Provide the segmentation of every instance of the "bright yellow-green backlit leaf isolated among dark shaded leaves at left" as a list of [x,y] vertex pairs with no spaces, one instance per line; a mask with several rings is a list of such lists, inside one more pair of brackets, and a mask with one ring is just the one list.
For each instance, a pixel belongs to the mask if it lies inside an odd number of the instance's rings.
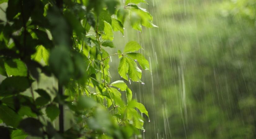
[[45,64],[48,65],[49,55],[49,51],[45,47],[43,47],[43,45],[39,45],[36,48],[36,53],[34,53],[31,57],[37,62],[40,62],[43,58]]

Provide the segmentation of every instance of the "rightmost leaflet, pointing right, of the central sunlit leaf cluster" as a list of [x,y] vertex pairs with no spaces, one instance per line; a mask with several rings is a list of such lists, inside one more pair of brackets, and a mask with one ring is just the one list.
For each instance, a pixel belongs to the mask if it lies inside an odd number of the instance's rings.
[[138,61],[141,68],[144,70],[149,70],[149,62],[146,60],[146,58],[140,54],[140,53],[127,53],[128,57],[132,58],[135,61]]

